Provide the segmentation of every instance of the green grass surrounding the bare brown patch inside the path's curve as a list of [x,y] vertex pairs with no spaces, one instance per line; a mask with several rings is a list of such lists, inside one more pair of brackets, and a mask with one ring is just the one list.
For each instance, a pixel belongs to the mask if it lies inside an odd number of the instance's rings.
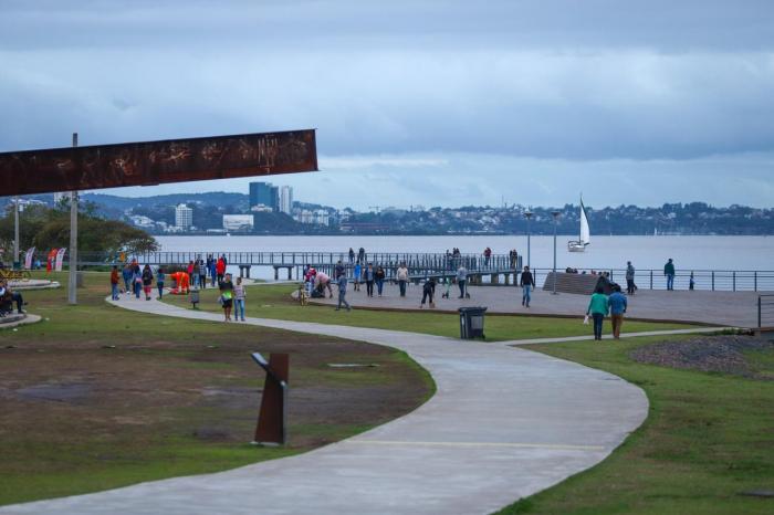
[[[104,302],[107,293],[106,277],[106,274],[86,274],[86,288],[79,291],[80,303],[76,307],[66,304],[66,288],[24,292],[30,303],[29,309],[42,315],[45,320],[22,326],[17,332],[0,330],[0,359],[6,359],[7,366],[19,367],[23,366],[19,362],[32,364],[38,362],[39,358],[48,358],[51,361],[51,372],[45,380],[57,382],[62,377],[80,375],[84,370],[94,376],[104,375],[104,370],[85,367],[81,361],[95,354],[113,353],[112,356],[116,359],[134,360],[139,360],[140,355],[147,354],[149,358],[146,358],[146,361],[137,361],[136,369],[158,366],[168,367],[170,372],[174,372],[176,369],[180,370],[179,367],[196,367],[202,375],[216,371],[212,379],[215,382],[210,382],[211,385],[229,385],[227,379],[219,379],[219,370],[229,371],[236,378],[240,377],[239,371],[234,371],[233,364],[226,358],[226,353],[222,360],[213,358],[212,361],[202,361],[201,355],[207,353],[202,349],[207,349],[208,345],[218,344],[220,350],[226,351],[226,346],[233,341],[279,345],[276,340],[293,335],[248,326],[223,326],[148,316],[115,308]],[[66,284],[64,274],[55,278]],[[320,340],[312,335],[302,338],[303,341],[310,343]],[[335,338],[325,338],[325,341],[332,340]],[[117,348],[106,350],[102,348],[103,345],[116,345]],[[63,347],[66,349],[63,350]],[[432,379],[404,353],[367,347],[376,349],[378,356],[375,358],[365,355],[363,359],[378,359],[383,365],[378,369],[369,369],[374,370],[373,372],[353,370],[347,374],[346,379],[342,379],[341,374],[330,370],[321,371],[314,367],[302,369],[299,360],[295,360],[292,371],[294,387],[318,385],[332,389],[365,386],[373,389],[391,381],[386,375],[393,374],[393,370],[402,370],[402,375],[396,376],[395,381],[402,382],[401,388],[412,385],[410,388],[414,391],[402,396],[411,406],[398,410],[410,411],[431,396],[435,389]],[[247,347],[245,350],[240,348],[236,351],[241,356],[241,353],[247,353]],[[56,361],[54,355],[64,357]],[[15,361],[20,357],[24,359]],[[348,360],[357,359],[358,356],[342,355],[336,358]],[[250,367],[247,376],[251,377],[254,375],[254,366],[249,364],[249,359],[244,362]],[[0,362],[0,366],[2,365]],[[40,365],[38,367],[40,368]],[[365,377],[366,374],[370,376]],[[28,381],[23,374],[21,378],[18,375],[13,377],[15,379],[11,378],[12,382],[6,385],[10,390],[4,392],[1,379],[9,380],[9,377],[0,378],[0,413],[4,413],[3,422],[0,423],[0,505],[232,469],[303,452],[321,443],[367,430],[377,420],[378,423],[385,421],[376,419],[372,423],[347,424],[328,423],[327,420],[317,419],[313,423],[302,421],[292,425],[290,433],[295,441],[313,443],[276,449],[255,448],[244,443],[248,439],[208,441],[192,437],[190,431],[190,428],[221,424],[223,419],[229,419],[228,423],[250,435],[254,428],[254,409],[244,413],[229,408],[202,408],[200,404],[175,409],[166,406],[147,408],[142,404],[129,406],[127,401],[126,406],[108,404],[102,411],[92,410],[88,417],[94,418],[87,419],[79,416],[85,408],[77,403],[67,406],[49,402],[40,410],[40,417],[35,418],[36,410],[33,408],[41,404],[32,404],[31,408],[31,404],[15,400],[13,389],[28,386]],[[262,383],[262,379],[247,382],[245,379],[241,380],[242,383],[234,383],[255,388]],[[195,385],[196,388],[200,386]],[[139,389],[140,386],[136,388]],[[3,398],[4,393],[10,397]],[[20,411],[22,414],[15,417],[17,425],[9,431],[9,410],[22,409],[32,411]],[[156,418],[158,423],[150,427],[150,431],[143,424],[115,427],[111,423],[113,417],[127,414],[127,409],[128,414]],[[137,411],[133,411],[135,409]],[[32,413],[29,419],[23,416],[27,412]]]

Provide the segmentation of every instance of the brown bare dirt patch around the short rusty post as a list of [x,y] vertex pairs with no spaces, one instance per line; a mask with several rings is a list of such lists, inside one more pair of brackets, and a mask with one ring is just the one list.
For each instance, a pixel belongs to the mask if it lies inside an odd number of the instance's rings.
[[[97,341],[33,340],[0,349],[0,437],[57,441],[66,440],[63,435],[123,435],[143,441],[182,434],[212,442],[250,441],[264,378],[250,359],[254,350],[291,355],[289,422],[310,428],[291,432],[292,446],[336,439],[335,431],[320,428],[399,417],[428,393],[421,375],[385,347],[291,333],[273,341],[261,339],[245,344],[223,336],[206,344],[144,345],[117,339],[109,348]],[[332,370],[330,362],[379,366]]]

